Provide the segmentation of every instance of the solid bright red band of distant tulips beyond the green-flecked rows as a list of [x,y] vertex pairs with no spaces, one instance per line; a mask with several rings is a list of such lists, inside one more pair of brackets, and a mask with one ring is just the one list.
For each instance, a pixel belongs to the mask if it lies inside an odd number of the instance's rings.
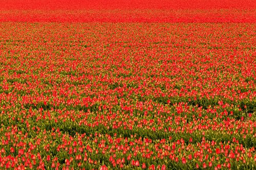
[[255,23],[252,0],[2,0],[0,21]]

